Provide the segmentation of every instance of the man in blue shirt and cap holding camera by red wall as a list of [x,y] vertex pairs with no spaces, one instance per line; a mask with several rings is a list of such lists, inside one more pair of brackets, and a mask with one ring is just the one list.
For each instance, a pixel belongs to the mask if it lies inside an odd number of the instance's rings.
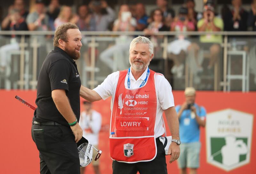
[[180,141],[182,142],[178,165],[180,174],[186,174],[187,168],[190,174],[196,174],[201,148],[199,127],[205,126],[206,110],[195,103],[195,88],[187,87],[184,94],[186,101],[175,108],[180,122]]

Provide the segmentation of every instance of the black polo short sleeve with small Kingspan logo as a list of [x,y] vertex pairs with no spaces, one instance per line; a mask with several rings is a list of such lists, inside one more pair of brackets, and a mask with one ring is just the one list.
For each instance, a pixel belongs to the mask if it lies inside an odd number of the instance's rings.
[[65,89],[68,91],[70,71],[70,65],[67,60],[60,59],[50,64],[48,74],[52,91],[55,89]]

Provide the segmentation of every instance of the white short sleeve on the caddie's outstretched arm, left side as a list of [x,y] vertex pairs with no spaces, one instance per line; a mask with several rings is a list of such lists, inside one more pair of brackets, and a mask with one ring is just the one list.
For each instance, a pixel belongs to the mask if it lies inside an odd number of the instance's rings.
[[106,100],[109,96],[113,95],[113,91],[117,85],[119,78],[119,72],[113,72],[93,90],[96,91],[103,100]]

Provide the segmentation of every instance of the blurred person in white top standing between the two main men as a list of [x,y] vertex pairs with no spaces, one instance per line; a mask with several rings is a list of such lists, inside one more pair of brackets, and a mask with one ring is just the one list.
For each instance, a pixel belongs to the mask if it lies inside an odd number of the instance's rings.
[[[86,138],[96,149],[99,144],[99,132],[101,128],[101,115],[99,112],[92,109],[92,103],[84,101],[84,111],[80,115],[79,125],[83,130],[83,137]],[[97,152],[93,150],[92,166],[95,174],[100,174],[99,162],[94,161]],[[84,174],[85,167],[80,167],[81,174]]]

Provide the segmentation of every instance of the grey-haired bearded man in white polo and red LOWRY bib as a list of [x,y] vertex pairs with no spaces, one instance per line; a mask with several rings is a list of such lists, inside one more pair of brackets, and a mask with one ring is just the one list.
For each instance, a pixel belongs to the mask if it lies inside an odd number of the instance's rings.
[[[162,74],[148,68],[153,43],[138,36],[130,44],[128,70],[113,72],[98,87],[81,87],[89,101],[111,99],[109,131],[113,174],[167,174],[170,163],[179,158],[179,121],[172,87]],[[163,137],[163,112],[172,137]]]

